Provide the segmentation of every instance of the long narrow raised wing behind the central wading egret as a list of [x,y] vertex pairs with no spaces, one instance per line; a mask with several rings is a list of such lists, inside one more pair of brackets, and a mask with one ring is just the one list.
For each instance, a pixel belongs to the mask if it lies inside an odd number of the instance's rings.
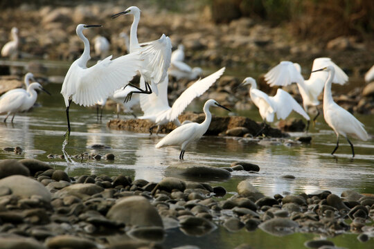
[[219,77],[224,73],[225,68],[221,68],[215,73],[204,77],[202,80],[197,80],[192,86],[188,87],[180,96],[175,100],[174,104],[172,104],[172,109],[168,116],[168,119],[175,120],[178,118],[179,114],[186,109],[188,104],[193,101],[194,98],[199,97],[206,90],[211,87],[211,85],[218,80]]

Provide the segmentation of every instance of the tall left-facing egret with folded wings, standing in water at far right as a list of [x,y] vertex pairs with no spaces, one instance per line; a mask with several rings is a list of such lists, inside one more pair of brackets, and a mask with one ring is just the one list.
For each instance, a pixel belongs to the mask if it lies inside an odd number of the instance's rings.
[[354,138],[366,141],[369,139],[368,133],[365,131],[362,122],[359,122],[359,120],[346,111],[346,109],[339,107],[339,105],[332,99],[331,83],[332,79],[335,77],[335,67],[329,65],[316,71],[312,71],[312,73],[319,71],[328,72],[328,78],[325,82],[325,90],[323,91],[323,117],[328,125],[335,131],[335,134],[337,134],[337,146],[331,154],[334,154],[339,147],[339,135],[341,135],[349,142],[350,149],[352,149],[352,156],[355,157],[355,150],[353,149],[353,144],[348,139],[348,136],[353,136]]

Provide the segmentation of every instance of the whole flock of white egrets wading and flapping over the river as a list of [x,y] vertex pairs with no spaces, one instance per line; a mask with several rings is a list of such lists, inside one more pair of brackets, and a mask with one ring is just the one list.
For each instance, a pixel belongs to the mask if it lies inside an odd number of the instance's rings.
[[[68,125],[68,131],[66,131],[65,135],[66,142],[69,140],[71,132],[69,120],[71,102],[85,107],[96,104],[98,107],[101,106],[103,108],[107,98],[110,98],[118,103],[117,113],[121,108],[131,112],[132,107],[140,103],[143,116],[138,118],[150,120],[154,124],[150,127],[151,134],[154,127],[158,127],[158,133],[161,125],[174,122],[177,129],[162,138],[157,143],[156,148],[168,145],[180,145],[181,154],[179,155],[179,159],[183,160],[186,147],[188,147],[190,142],[201,138],[211,123],[209,107],[229,109],[218,104],[215,100],[208,100],[204,104],[203,110],[206,118],[202,124],[195,122],[181,124],[178,116],[186,109],[190,102],[206,92],[220,78],[225,68],[221,68],[219,71],[197,80],[181,93],[179,98],[170,107],[168,103],[168,75],[172,75],[177,80],[181,78],[194,80],[202,75],[202,68],[191,68],[184,62],[183,45],[180,44],[172,52],[170,38],[166,35],[161,35],[160,39],[155,41],[139,44],[137,38],[137,28],[141,16],[139,8],[135,6],[127,8],[123,12],[112,15],[112,19],[121,15],[134,16],[134,21],[130,29],[130,38],[125,33],[120,34],[120,37],[123,37],[125,40],[128,54],[112,59],[112,55],[107,56],[110,46],[108,40],[105,37],[97,36],[94,39],[94,49],[96,55],[101,60],[89,68],[87,68],[87,62],[91,59],[89,40],[87,37],[84,37],[83,31],[87,28],[100,27],[100,25],[79,24],[76,28],[78,37],[84,43],[84,51],[80,58],[71,64],[61,89],[61,94],[64,97],[66,105]],[[17,46],[19,44],[17,34],[17,28],[12,28],[12,41],[3,46],[1,56],[12,57],[12,55],[17,53]],[[137,73],[140,74],[139,86],[130,83]],[[373,80],[373,77],[374,66],[365,75],[365,80]],[[37,98],[35,90],[46,91],[37,82],[30,84],[31,80],[35,81],[33,75],[31,73],[26,74],[26,90],[13,89],[0,97],[0,113],[7,113],[4,122],[6,122],[10,115],[13,115],[13,122],[15,113],[26,111],[30,107],[33,107]],[[260,116],[264,121],[264,127],[266,122],[274,122],[275,118],[287,118],[292,111],[296,111],[303,116],[308,121],[309,127],[310,117],[308,116],[308,107],[315,107],[317,109],[319,105],[318,96],[324,89],[323,116],[337,135],[337,145],[332,154],[339,147],[340,135],[348,140],[353,157],[355,156],[355,152],[348,136],[361,140],[369,139],[368,133],[364,129],[364,124],[359,122],[348,111],[339,107],[332,99],[331,83],[345,84],[348,82],[348,76],[330,58],[314,59],[312,74],[308,80],[305,80],[301,75],[301,66],[292,62],[281,62],[265,75],[265,80],[270,86],[287,86],[296,83],[303,98],[303,107],[286,91],[278,89],[276,95],[269,96],[257,89],[256,80],[252,77],[245,78],[242,85],[251,85],[249,95],[253,104],[259,109]],[[133,95],[134,93],[140,94]],[[318,115],[319,110],[317,109]],[[314,117],[313,121],[316,120],[317,116]]]

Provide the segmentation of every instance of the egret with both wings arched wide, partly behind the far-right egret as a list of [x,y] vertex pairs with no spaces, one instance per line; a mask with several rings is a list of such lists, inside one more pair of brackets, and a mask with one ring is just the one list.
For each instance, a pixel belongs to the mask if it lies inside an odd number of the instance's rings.
[[[314,59],[312,71],[323,68],[325,66],[332,65],[335,68],[336,74],[332,82],[337,84],[345,84],[348,81],[348,76],[344,73],[339,66],[331,61],[328,57],[321,57]],[[324,82],[328,77],[327,72],[320,71],[318,73],[310,74],[309,80],[304,80],[301,75],[301,66],[292,62],[281,62],[274,68],[272,68],[265,75],[265,80],[270,86],[287,86],[292,83],[296,83],[301,98],[303,98],[303,107],[305,111],[308,111],[308,107],[316,107],[317,115],[313,118],[313,122],[319,116],[319,105],[318,96],[321,94],[324,86]]]

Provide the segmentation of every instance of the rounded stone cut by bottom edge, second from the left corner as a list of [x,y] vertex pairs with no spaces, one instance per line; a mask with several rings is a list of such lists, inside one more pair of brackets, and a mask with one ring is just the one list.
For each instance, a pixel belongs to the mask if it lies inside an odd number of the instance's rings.
[[98,248],[94,241],[73,235],[57,235],[50,239],[46,239],[46,246],[48,248]]

